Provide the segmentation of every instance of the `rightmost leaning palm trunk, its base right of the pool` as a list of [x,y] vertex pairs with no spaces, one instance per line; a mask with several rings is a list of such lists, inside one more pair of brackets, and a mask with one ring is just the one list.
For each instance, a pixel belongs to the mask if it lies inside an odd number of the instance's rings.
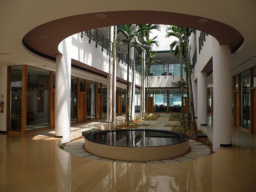
[[191,81],[191,64],[188,57],[188,34],[187,34],[187,28],[185,27],[185,43],[186,43],[186,50],[187,50],[187,58],[188,58],[188,77],[189,77],[189,89],[190,89],[190,100],[191,100],[191,112],[192,112],[192,122],[193,122],[193,138],[198,139],[197,135],[197,127],[196,127],[196,119],[195,119],[195,109],[194,109],[194,100],[193,100],[193,89],[192,89],[192,81]]

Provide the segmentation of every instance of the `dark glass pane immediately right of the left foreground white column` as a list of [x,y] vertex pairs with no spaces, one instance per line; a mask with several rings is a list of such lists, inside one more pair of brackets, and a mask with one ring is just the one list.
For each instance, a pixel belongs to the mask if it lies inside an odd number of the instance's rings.
[[71,77],[70,122],[77,122],[77,78]]

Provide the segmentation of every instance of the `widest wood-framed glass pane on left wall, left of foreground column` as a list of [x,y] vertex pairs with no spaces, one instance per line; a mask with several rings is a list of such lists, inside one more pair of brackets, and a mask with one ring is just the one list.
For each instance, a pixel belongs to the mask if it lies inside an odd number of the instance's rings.
[[27,69],[27,131],[49,127],[50,72]]

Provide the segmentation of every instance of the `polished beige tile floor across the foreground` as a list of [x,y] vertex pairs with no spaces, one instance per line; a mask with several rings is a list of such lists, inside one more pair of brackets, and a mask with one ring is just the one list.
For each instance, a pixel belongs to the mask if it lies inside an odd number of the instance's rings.
[[[103,120],[104,121],[104,120]],[[212,121],[211,121],[212,122]],[[92,122],[90,126],[104,122]],[[88,124],[76,124],[71,137]],[[212,127],[205,127],[211,132]],[[129,164],[87,159],[58,147],[54,130],[0,135],[0,191],[245,192],[256,191],[256,135],[233,128],[233,147],[201,159]]]

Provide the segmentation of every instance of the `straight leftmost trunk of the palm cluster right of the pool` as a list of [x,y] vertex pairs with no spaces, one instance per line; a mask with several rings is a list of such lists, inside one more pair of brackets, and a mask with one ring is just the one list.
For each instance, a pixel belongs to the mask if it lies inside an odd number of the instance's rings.
[[186,134],[185,128],[185,114],[184,114],[184,101],[183,101],[183,70],[182,70],[182,39],[181,39],[181,27],[180,29],[180,89],[181,89],[181,116],[182,116],[182,133]]

